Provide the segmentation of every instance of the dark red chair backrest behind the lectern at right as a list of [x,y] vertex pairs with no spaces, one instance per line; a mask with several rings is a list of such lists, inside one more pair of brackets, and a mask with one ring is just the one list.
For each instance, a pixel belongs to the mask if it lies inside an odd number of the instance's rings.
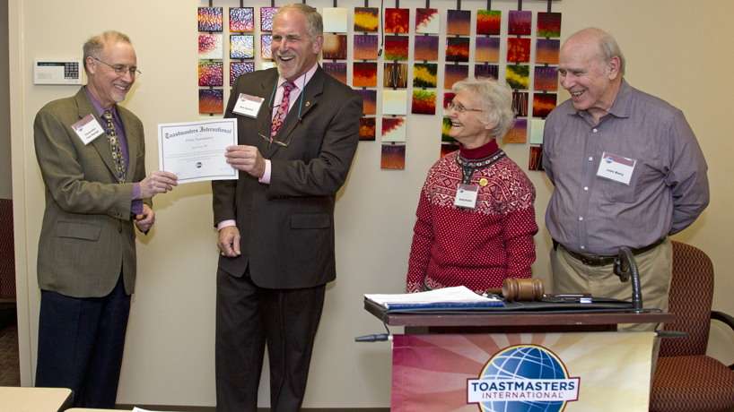
[[662,339],[660,356],[706,354],[711,325],[713,265],[706,253],[691,245],[673,241],[673,278],[670,281],[668,311],[676,322],[664,330],[678,330],[686,338]]

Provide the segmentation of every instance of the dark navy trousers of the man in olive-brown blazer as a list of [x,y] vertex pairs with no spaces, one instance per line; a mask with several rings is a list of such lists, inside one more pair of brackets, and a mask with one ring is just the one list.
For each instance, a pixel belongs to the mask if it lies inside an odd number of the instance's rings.
[[41,290],[36,386],[74,391],[74,408],[115,408],[130,296],[122,275],[108,296]]

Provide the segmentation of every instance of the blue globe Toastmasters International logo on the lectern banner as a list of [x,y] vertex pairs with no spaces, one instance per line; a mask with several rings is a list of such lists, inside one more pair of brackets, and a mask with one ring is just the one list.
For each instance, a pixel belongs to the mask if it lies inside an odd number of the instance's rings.
[[478,379],[467,380],[467,403],[483,412],[561,412],[579,399],[579,382],[550,350],[518,345],[495,354]]

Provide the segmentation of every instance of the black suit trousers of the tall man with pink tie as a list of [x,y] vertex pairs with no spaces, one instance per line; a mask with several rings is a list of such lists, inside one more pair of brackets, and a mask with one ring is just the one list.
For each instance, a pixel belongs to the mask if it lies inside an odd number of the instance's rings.
[[266,344],[271,410],[299,410],[326,285],[259,288],[249,270],[241,278],[217,270],[216,284],[217,411],[257,410]]

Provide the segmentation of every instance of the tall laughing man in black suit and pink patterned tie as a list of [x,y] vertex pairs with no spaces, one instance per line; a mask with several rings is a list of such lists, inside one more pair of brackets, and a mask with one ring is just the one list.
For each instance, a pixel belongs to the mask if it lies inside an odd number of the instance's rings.
[[[255,411],[265,345],[270,403],[301,407],[326,284],[336,278],[334,205],[359,142],[362,99],[318,64],[323,22],[306,4],[273,21],[277,70],[240,76],[226,117],[246,173],[216,181],[217,410]],[[249,97],[249,99],[247,99]],[[262,100],[258,111],[243,101]]]

